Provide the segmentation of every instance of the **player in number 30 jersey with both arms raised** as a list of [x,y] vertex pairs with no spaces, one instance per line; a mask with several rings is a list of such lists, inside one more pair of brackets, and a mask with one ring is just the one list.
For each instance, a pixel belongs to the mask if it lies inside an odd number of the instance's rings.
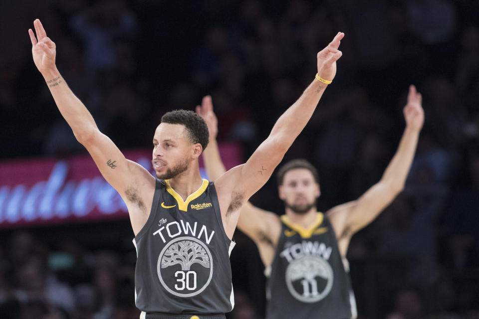
[[[136,306],[147,319],[225,318],[234,307],[229,254],[240,207],[271,176],[336,74],[344,33],[317,55],[315,79],[274,125],[246,163],[202,179],[198,159],[208,145],[205,121],[191,111],[166,113],[153,137],[154,178],[125,159],[68,88],[55,65],[55,44],[40,21],[28,30],[33,61],[78,142],[125,201],[137,250]],[[132,107],[134,107],[132,105]]]

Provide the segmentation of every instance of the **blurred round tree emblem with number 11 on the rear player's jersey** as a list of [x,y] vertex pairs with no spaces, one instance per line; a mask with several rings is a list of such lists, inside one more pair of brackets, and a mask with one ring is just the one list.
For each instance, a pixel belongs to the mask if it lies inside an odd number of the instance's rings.
[[293,260],[286,269],[286,285],[291,295],[304,303],[324,299],[333,286],[333,270],[323,258],[306,255]]

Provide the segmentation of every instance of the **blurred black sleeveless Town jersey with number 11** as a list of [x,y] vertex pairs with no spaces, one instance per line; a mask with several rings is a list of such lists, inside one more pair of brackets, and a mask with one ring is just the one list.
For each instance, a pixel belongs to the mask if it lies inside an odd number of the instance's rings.
[[267,281],[266,319],[356,318],[349,266],[329,220],[317,213],[305,229],[283,215],[281,225]]

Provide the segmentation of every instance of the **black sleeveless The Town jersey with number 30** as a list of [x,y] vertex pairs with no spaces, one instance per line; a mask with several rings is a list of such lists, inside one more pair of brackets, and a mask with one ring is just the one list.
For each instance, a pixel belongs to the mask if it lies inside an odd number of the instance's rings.
[[168,180],[156,181],[151,213],[133,239],[135,303],[145,313],[223,314],[234,307],[230,253],[215,185],[183,201]]

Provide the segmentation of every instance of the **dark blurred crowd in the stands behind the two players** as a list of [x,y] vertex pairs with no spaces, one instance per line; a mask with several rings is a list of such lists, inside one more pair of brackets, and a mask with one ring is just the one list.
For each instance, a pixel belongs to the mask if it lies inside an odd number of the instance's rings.
[[[1,1],[1,160],[84,153],[32,62],[37,17],[64,79],[120,148],[150,147],[165,112],[211,94],[218,139],[245,156],[344,32],[333,84],[285,160],[318,167],[321,211],[357,198],[392,158],[415,84],[426,122],[406,189],[348,253],[360,318],[479,318],[478,1]],[[251,200],[284,209],[274,179]],[[124,223],[101,233],[128,242]],[[92,243],[88,227],[1,231],[1,319],[138,318],[133,246]],[[262,266],[235,236],[229,318],[260,319]]]

